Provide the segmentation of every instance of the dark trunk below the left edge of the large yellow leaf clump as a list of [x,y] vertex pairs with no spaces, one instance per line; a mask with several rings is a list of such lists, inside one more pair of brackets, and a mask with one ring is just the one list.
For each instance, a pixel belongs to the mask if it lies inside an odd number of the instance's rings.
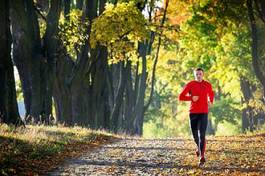
[[[87,2],[88,3],[88,2]],[[106,1],[100,0],[90,2],[87,4],[86,16],[89,18],[90,22],[97,16],[97,11],[101,14],[104,11]],[[98,9],[98,10],[97,10]],[[90,33],[90,28],[89,28]],[[108,52],[106,47],[97,46],[96,49],[91,50],[91,72],[90,76],[92,78],[92,117],[93,117],[93,127],[94,128],[108,128],[110,123],[110,106],[109,106],[109,89],[107,74],[108,71]],[[94,64],[93,64],[94,63]]]

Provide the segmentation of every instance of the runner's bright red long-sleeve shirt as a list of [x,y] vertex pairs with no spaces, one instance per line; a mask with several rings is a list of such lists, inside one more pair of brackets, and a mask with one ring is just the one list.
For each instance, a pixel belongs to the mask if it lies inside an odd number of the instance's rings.
[[[199,96],[199,99],[194,102],[192,96]],[[201,82],[190,81],[181,91],[179,100],[191,101],[190,113],[208,113],[208,97],[210,102],[213,103],[214,93],[209,82],[204,80]]]

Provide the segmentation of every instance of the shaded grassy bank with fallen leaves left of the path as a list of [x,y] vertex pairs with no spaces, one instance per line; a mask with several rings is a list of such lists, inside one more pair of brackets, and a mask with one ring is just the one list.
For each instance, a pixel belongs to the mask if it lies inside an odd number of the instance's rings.
[[117,138],[82,127],[0,124],[0,175],[43,175],[63,160]]

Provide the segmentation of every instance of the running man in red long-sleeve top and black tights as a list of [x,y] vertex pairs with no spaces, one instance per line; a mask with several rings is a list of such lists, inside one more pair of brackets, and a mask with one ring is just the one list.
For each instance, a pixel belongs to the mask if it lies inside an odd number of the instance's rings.
[[180,101],[191,101],[190,104],[190,127],[197,145],[196,155],[200,157],[199,166],[205,163],[205,133],[208,122],[208,106],[213,104],[214,93],[212,85],[203,80],[203,69],[194,71],[195,80],[185,85],[179,95]]

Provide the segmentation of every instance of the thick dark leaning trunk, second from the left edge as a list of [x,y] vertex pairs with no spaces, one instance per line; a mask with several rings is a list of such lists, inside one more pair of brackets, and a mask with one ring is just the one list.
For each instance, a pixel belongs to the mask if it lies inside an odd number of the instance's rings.
[[13,34],[13,57],[22,82],[26,114],[34,122],[47,114],[41,88],[42,67],[41,40],[33,1],[12,0],[11,22]]

